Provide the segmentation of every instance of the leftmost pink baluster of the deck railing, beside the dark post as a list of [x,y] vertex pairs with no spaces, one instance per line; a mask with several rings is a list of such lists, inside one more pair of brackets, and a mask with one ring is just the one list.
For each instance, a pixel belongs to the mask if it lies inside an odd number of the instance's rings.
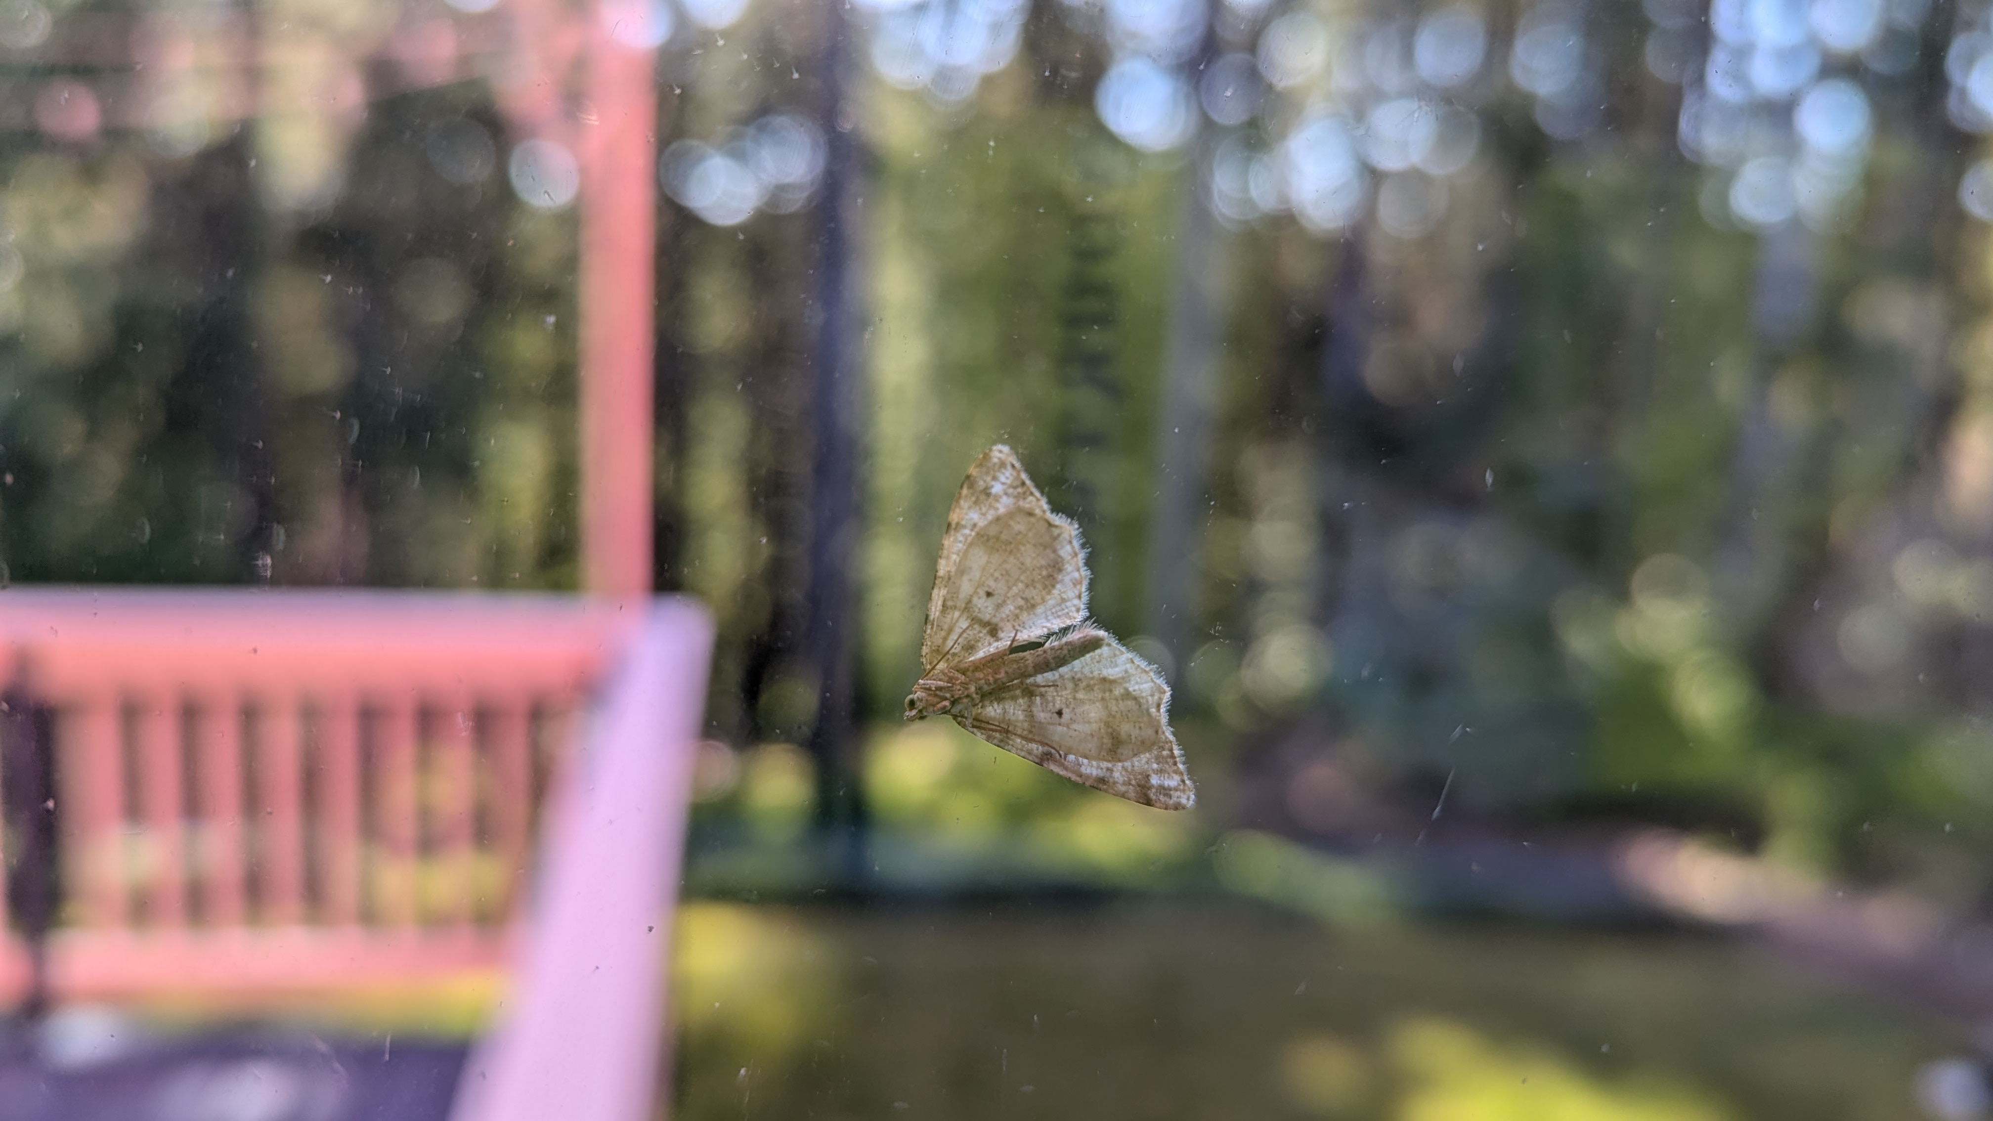
[[[114,692],[80,696],[70,710],[76,746],[68,760],[62,756],[56,760],[62,784],[56,812],[66,820],[70,840],[66,872],[70,882],[82,888],[84,926],[94,928],[126,926],[124,752],[118,706],[120,698]],[[64,768],[64,762],[72,766]]]

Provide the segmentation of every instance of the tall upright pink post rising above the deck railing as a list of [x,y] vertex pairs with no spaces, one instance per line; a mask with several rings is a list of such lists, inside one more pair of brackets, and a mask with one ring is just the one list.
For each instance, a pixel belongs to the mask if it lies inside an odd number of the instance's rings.
[[582,126],[582,586],[650,590],[658,88],[644,2],[604,0]]

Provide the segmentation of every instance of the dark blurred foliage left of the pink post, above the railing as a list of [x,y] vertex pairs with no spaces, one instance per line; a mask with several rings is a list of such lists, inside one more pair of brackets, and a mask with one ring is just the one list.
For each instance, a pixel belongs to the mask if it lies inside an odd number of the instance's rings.
[[572,223],[438,178],[466,112],[377,106],[303,213],[259,205],[255,126],[0,148],[14,578],[572,584]]

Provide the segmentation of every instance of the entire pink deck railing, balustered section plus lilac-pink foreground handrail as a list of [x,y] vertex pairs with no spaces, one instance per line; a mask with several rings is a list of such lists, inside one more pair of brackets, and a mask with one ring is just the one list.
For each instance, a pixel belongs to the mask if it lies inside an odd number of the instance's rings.
[[[580,740],[574,766],[556,778],[558,806],[546,814],[536,906],[520,939],[504,937],[506,928],[462,922],[448,908],[442,922],[413,935],[401,926],[355,922],[359,890],[351,872],[327,872],[317,894],[305,890],[293,900],[285,888],[289,872],[247,868],[221,882],[261,884],[265,916],[283,916],[295,906],[305,922],[245,922],[245,912],[235,910],[227,924],[213,922],[209,912],[165,926],[112,922],[124,912],[92,910],[52,947],[58,993],[395,983],[504,959],[504,951],[518,945],[512,997],[502,1021],[464,1065],[452,1121],[652,1117],[664,1055],[664,969],[710,650],[706,612],[670,598],[612,604],[389,592],[16,588],[0,594],[0,672],[58,706],[58,768],[94,800],[90,828],[104,826],[102,816],[112,812],[106,790],[124,786],[122,752],[100,742],[118,746],[116,728],[106,732],[108,722],[94,714],[120,712],[126,696],[177,696],[195,710],[227,698],[227,712],[207,712],[195,722],[195,746],[223,744],[227,750],[197,758],[237,764],[263,758],[237,750],[235,730],[249,710],[241,698],[311,698],[305,708],[289,700],[257,702],[253,722],[263,726],[251,740],[277,766],[253,782],[239,776],[217,782],[215,774],[199,772],[195,782],[209,796],[197,800],[191,828],[205,828],[207,812],[239,818],[251,790],[263,792],[269,818],[281,816],[277,802],[289,800],[293,790],[317,790],[317,796],[295,800],[297,818],[315,828],[283,826],[271,834],[279,840],[265,836],[259,846],[289,844],[283,838],[293,834],[321,838],[317,858],[329,870],[369,862],[351,856],[365,850],[365,838],[353,836],[365,832],[359,792],[365,776],[355,768],[365,742],[359,714],[379,704],[377,698],[387,702],[385,720],[379,720],[389,730],[387,742],[417,744],[419,708],[432,708],[466,728],[456,734],[444,726],[425,740],[446,744],[452,768],[462,766],[466,748],[460,744],[472,744],[472,782],[488,792],[494,854],[516,854],[532,820],[526,714],[534,706],[550,710],[556,718],[546,724],[572,726]],[[574,700],[610,668],[614,676],[596,690],[598,704],[576,720]],[[482,726],[472,730],[470,720],[456,720],[476,712],[472,700],[496,712],[488,736],[476,734]],[[317,712],[311,722],[317,746],[293,752],[301,734],[273,732],[269,724],[303,710]],[[179,758],[167,750],[177,736],[161,732],[165,720],[159,718],[140,720],[140,726],[147,730],[130,742],[138,766],[147,776],[163,774]],[[82,728],[82,738],[74,738],[72,728]],[[213,734],[217,728],[227,734]],[[488,750],[476,752],[478,744]],[[283,762],[293,754],[311,760],[307,770],[323,774],[323,782],[293,786]],[[492,760],[488,768],[480,768],[484,756]],[[393,758],[415,758],[415,752]],[[143,828],[171,820],[167,800],[143,784],[140,802]],[[452,802],[448,814],[462,804],[468,802]],[[397,828],[409,820],[413,816]],[[132,822],[114,814],[106,828],[122,832]],[[149,868],[151,862],[124,866],[118,892],[96,882],[86,882],[84,890],[122,894],[130,882],[151,900],[167,880],[149,876]],[[502,868],[514,870],[512,864]],[[104,876],[102,870],[92,874]],[[233,898],[239,902],[241,892]],[[313,902],[327,920],[321,926],[309,924]],[[6,945],[0,979],[18,987],[22,969],[22,949]]]

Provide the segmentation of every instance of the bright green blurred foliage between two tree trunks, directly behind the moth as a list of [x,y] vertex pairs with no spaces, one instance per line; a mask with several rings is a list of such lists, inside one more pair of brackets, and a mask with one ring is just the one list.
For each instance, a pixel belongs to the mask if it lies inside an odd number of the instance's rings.
[[907,94],[869,102],[865,622],[879,712],[897,710],[917,676],[941,527],[991,443],[1016,447],[1080,523],[1094,612],[1124,632],[1142,618],[1156,325],[1180,176],[1128,152],[1088,108],[1018,96],[996,90],[959,124]]

